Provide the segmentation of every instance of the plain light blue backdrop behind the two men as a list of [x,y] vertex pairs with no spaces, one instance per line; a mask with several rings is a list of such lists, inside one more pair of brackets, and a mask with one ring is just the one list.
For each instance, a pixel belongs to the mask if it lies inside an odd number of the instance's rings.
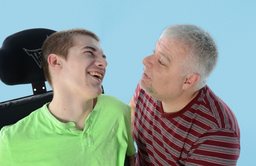
[[[198,25],[219,46],[219,63],[207,84],[234,111],[241,132],[237,165],[255,165],[254,1],[0,1],[0,43],[30,28],[86,28],[101,38],[108,66],[105,94],[129,103],[165,27]],[[32,95],[31,85],[0,82],[0,102]],[[48,86],[48,90],[50,90]]]

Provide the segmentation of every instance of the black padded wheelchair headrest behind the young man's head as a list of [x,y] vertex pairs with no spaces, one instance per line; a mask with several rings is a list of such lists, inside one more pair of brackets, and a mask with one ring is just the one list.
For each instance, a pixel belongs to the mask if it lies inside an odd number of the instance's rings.
[[0,48],[0,80],[6,85],[45,82],[41,48],[54,32],[34,28],[8,36]]

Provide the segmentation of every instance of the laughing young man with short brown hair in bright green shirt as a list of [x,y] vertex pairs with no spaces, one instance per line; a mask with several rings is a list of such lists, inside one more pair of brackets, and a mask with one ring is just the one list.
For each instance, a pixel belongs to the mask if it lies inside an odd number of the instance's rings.
[[99,38],[75,28],[49,36],[42,66],[50,103],[0,131],[1,165],[135,165],[131,109],[101,94],[106,56]]

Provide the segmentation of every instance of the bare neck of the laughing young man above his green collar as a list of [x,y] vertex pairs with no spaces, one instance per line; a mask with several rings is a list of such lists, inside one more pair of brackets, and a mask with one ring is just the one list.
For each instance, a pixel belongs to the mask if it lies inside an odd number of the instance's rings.
[[78,130],[83,130],[85,120],[96,105],[94,99],[81,100],[79,96],[67,97],[67,95],[54,93],[53,100],[48,105],[50,113],[60,122],[74,122]]

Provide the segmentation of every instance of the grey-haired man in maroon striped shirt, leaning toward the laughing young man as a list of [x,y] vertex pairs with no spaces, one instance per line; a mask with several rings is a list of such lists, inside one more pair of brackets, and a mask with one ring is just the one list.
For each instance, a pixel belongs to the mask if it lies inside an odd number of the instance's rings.
[[190,24],[167,27],[130,101],[136,165],[236,165],[240,131],[206,85],[218,61],[214,38]]

